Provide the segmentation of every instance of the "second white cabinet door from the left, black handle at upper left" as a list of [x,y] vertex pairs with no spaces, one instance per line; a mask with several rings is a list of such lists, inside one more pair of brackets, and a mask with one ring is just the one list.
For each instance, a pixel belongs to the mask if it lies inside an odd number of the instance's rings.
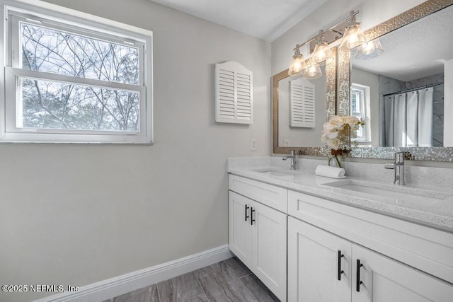
[[277,298],[287,294],[287,215],[255,202],[252,205],[252,271]]

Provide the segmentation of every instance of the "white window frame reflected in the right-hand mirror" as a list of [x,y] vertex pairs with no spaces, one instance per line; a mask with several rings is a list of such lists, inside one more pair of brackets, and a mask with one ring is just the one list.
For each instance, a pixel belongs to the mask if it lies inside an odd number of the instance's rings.
[[369,86],[352,83],[351,85],[351,102],[352,102],[352,94],[353,91],[360,91],[361,100],[360,104],[358,104],[359,111],[352,112],[352,103],[350,104],[351,108],[351,115],[353,117],[362,118],[365,122],[365,125],[362,125],[362,136],[358,136],[355,139],[358,144],[371,144],[371,95],[370,95],[370,88]]

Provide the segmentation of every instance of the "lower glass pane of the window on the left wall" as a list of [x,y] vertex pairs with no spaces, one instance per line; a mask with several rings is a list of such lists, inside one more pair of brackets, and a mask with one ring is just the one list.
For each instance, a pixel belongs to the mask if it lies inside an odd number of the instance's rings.
[[17,127],[139,132],[139,93],[34,79],[22,83]]

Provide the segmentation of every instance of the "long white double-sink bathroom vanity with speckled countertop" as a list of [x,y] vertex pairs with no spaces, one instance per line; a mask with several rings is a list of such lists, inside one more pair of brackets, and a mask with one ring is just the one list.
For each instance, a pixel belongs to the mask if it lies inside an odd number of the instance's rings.
[[229,161],[229,247],[281,301],[452,301],[453,191]]

